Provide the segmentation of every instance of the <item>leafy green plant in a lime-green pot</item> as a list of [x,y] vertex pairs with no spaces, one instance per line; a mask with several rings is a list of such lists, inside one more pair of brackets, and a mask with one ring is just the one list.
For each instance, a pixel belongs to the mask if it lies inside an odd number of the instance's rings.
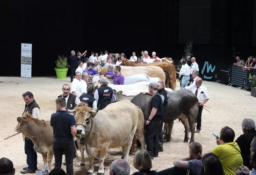
[[56,63],[56,75],[59,79],[65,79],[70,65],[68,64],[68,58],[64,55],[59,55]]

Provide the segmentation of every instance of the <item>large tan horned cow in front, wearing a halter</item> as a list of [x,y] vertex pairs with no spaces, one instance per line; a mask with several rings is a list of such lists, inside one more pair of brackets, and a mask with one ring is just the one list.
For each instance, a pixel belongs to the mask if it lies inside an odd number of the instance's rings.
[[77,135],[86,139],[85,146],[78,143],[81,151],[81,164],[84,164],[84,149],[89,158],[88,173],[94,172],[94,157],[99,157],[98,174],[104,174],[103,162],[106,152],[110,148],[122,146],[122,158],[128,160],[129,150],[132,146],[134,135],[142,142],[145,149],[144,133],[139,123],[144,123],[144,116],[138,107],[129,100],[111,103],[103,110],[94,110],[87,105],[80,103],[74,110],[67,110],[74,113],[77,125]]

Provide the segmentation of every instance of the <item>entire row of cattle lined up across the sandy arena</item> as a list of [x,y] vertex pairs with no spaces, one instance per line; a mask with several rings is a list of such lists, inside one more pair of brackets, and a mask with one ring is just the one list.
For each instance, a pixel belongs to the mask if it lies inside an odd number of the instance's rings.
[[[109,104],[103,110],[94,110],[83,103],[78,104],[74,110],[67,110],[76,119],[76,141],[81,152],[81,165],[85,165],[84,150],[88,155],[88,173],[94,172],[95,156],[98,157],[100,164],[98,173],[104,173],[103,162],[107,150],[110,148],[122,147],[122,158],[127,161],[129,152],[134,151],[136,137],[142,143],[142,149],[146,149],[144,121],[150,114],[147,105],[151,96],[142,95],[139,92],[147,91],[146,85],[150,82],[160,80],[166,83],[166,90],[169,95],[167,118],[164,120],[166,123],[166,140],[170,141],[173,122],[179,118],[185,127],[184,142],[188,142],[190,129],[190,142],[194,142],[194,121],[198,112],[196,96],[189,90],[173,91],[176,86],[176,70],[174,62],[170,58],[159,59],[160,61],[154,60],[155,63],[153,61],[153,63],[147,63],[150,60],[143,61],[143,64],[127,60],[122,63],[121,74],[126,78],[127,84],[113,85],[111,82],[108,84],[114,89],[117,102]],[[108,65],[102,67],[100,75],[104,75],[107,69]],[[95,87],[99,86],[100,75],[90,77],[95,82]],[[53,158],[53,129],[49,121],[35,119],[28,113],[18,117],[17,121],[15,131],[21,132],[25,137],[32,140],[35,151],[42,154],[44,170],[47,168],[50,170]],[[85,144],[80,144],[81,137],[86,139]]]

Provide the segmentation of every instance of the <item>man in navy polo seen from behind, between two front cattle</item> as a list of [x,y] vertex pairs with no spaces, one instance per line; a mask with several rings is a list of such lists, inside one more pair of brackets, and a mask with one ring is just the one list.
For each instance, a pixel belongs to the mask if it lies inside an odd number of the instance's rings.
[[66,112],[66,100],[63,97],[56,99],[56,113],[51,115],[50,124],[53,127],[52,148],[55,158],[54,168],[61,168],[62,152],[66,160],[66,173],[73,175],[73,157],[75,144],[73,138],[76,134],[75,117]]

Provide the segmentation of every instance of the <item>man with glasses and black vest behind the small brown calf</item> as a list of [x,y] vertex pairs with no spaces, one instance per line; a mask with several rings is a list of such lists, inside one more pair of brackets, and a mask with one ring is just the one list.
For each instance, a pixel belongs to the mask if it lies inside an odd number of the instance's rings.
[[[22,94],[23,100],[25,101],[25,110],[24,113],[29,113],[32,115],[33,118],[40,118],[40,107],[36,103],[34,99],[34,95],[31,92],[25,92]],[[22,114],[22,115],[23,115]],[[27,174],[27,173],[36,173],[37,170],[37,154],[34,150],[34,144],[31,140],[28,138],[25,138],[25,154],[27,155],[27,167],[23,168],[23,171],[21,171],[21,174]]]

